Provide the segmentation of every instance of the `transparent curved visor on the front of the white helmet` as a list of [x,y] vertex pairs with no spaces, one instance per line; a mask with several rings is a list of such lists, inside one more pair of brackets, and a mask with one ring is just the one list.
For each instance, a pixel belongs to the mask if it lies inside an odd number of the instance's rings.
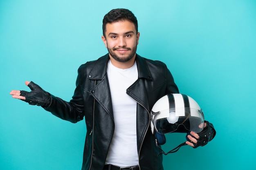
[[179,126],[184,126],[186,130],[196,133],[204,128],[202,109],[176,108],[158,112],[151,111],[151,119],[153,119],[155,130],[160,134],[172,133]]

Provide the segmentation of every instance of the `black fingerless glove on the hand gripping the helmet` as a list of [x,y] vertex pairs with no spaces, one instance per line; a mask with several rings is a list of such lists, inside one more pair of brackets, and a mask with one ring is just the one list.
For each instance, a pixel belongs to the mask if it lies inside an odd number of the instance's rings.
[[213,124],[211,124],[206,120],[204,120],[204,122],[207,125],[200,133],[198,133],[199,135],[199,139],[197,139],[198,142],[196,144],[192,142],[194,144],[193,148],[197,148],[198,146],[204,146],[208,144],[208,142],[210,142],[216,135],[216,131],[213,127]]

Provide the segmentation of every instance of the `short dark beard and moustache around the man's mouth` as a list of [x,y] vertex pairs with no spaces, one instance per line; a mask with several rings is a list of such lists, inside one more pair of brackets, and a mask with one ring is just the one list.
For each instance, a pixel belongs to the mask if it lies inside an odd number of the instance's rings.
[[[125,55],[125,54],[121,54],[121,55],[117,55],[115,53],[115,50],[119,50],[119,49],[125,49],[125,50],[130,50],[130,54],[128,55]],[[132,48],[127,48],[127,47],[121,47],[121,48],[113,48],[113,49],[110,49],[108,48],[108,52],[109,54],[116,60],[116,61],[119,61],[121,63],[125,63],[125,62],[128,62],[130,61],[134,55],[136,54],[136,50],[137,50],[137,45],[132,47]]]

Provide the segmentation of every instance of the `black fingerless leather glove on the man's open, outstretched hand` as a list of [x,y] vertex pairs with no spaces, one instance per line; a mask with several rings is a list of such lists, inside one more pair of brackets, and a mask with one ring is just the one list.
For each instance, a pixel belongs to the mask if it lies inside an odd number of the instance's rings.
[[45,92],[39,85],[32,81],[27,86],[31,89],[31,92],[20,91],[20,96],[26,98],[23,101],[28,102],[29,105],[38,105],[41,107],[49,107],[51,105],[52,96],[48,92]]

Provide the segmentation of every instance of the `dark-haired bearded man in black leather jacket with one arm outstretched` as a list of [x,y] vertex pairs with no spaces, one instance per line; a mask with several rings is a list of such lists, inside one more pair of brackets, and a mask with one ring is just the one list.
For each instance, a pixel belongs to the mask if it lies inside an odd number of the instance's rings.
[[[131,11],[107,13],[102,40],[109,53],[80,66],[70,102],[28,81],[31,92],[10,94],[73,123],[85,117],[83,170],[162,170],[149,114],[159,98],[179,93],[173,76],[164,63],[136,54],[139,32]],[[191,135],[187,144],[194,146],[199,135]]]

